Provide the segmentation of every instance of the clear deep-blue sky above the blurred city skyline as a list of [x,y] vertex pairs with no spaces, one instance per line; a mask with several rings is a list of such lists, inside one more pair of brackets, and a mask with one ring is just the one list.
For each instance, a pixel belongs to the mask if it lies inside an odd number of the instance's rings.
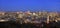
[[0,0],[0,11],[60,11],[60,0]]

